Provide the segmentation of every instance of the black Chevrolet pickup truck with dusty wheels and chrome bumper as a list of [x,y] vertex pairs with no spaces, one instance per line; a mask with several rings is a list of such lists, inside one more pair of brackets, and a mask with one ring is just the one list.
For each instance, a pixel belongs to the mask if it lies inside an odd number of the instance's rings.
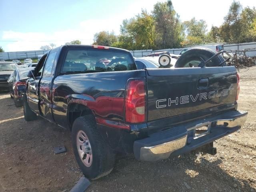
[[25,119],[39,115],[70,129],[78,165],[91,179],[111,172],[116,152],[144,161],[198,149],[215,154],[213,141],[247,116],[237,110],[233,66],[137,70],[127,50],[65,45],[42,56],[28,77]]

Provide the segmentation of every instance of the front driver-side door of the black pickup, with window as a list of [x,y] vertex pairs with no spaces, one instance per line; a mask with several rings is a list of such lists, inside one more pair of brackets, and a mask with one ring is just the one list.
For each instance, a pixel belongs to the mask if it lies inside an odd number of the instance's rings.
[[[44,58],[43,58],[44,57]],[[31,110],[40,114],[39,111],[39,82],[41,78],[42,67],[44,65],[47,54],[38,62],[38,66],[34,69],[34,77],[29,78],[27,87],[28,105]]]

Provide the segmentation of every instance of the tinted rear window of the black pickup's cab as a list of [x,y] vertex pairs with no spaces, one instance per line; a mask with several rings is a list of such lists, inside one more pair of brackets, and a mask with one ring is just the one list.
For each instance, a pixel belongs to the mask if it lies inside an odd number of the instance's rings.
[[110,50],[69,50],[62,73],[90,73],[136,70],[127,52]]

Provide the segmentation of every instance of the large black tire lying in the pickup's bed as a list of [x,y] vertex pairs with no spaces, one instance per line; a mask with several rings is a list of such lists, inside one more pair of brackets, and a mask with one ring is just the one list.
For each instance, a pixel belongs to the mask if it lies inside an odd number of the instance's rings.
[[[176,61],[175,68],[183,68],[183,67],[192,67],[192,61],[201,61],[200,57],[206,61],[212,56],[214,56],[217,52],[208,49],[208,48],[192,48],[184,52],[178,60]],[[220,55],[216,56],[212,59],[212,61],[206,64],[206,67],[218,67],[221,62],[224,61],[224,58]],[[227,66],[226,62],[222,64],[222,66]],[[197,66],[195,66],[197,67]]]

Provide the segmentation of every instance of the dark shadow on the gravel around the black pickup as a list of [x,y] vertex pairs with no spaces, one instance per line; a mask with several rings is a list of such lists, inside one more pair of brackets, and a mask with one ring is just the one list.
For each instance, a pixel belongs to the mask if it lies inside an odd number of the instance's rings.
[[[0,182],[7,191],[70,190],[82,176],[69,130],[42,118],[3,122],[0,129]],[[61,145],[67,152],[54,155],[53,148]],[[93,180],[88,191],[254,191],[248,181],[236,179],[220,168],[222,161],[184,154],[158,162],[140,162],[133,155],[118,155],[114,170]]]

